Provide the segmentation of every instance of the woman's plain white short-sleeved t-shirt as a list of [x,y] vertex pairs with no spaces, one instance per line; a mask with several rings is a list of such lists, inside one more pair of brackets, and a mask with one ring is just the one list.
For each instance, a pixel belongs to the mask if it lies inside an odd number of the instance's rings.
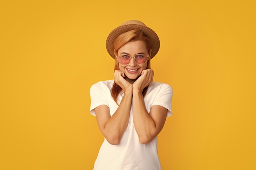
[[[111,116],[117,110],[118,105],[110,92],[113,83],[114,80],[108,80],[92,85],[90,89],[92,115],[95,116],[94,108],[100,105],[107,105]],[[171,116],[172,95],[172,88],[168,84],[152,82],[144,97],[148,113],[153,105],[160,105],[168,109],[167,117]],[[123,96],[124,93],[120,93],[117,97],[118,104]],[[130,120],[120,143],[111,145],[106,138],[104,139],[94,163],[94,170],[161,170],[157,154],[157,137],[149,144],[139,142],[132,119],[132,106]]]

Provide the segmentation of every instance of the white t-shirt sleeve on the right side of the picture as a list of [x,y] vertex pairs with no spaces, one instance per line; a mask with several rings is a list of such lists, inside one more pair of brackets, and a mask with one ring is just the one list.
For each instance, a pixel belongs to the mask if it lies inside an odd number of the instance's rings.
[[168,84],[162,84],[159,90],[159,93],[157,93],[152,106],[160,105],[168,109],[167,117],[169,117],[172,115],[172,106],[171,106],[172,97],[173,97],[173,89],[171,88],[171,86],[169,86]]

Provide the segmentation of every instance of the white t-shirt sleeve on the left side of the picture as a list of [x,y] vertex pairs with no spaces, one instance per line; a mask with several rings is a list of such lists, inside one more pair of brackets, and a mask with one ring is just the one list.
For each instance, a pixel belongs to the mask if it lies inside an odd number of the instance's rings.
[[[100,105],[108,106],[108,97],[106,96],[108,88],[102,82],[93,84],[90,88],[91,106],[90,113],[95,116],[94,109]],[[105,93],[104,93],[105,92]]]

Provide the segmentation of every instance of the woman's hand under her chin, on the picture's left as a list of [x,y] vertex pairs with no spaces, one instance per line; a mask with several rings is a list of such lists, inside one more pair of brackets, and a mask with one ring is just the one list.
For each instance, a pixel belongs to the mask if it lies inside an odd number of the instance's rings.
[[128,81],[126,81],[126,79],[124,79],[124,72],[120,70],[115,70],[114,77],[116,84],[118,84],[124,92],[126,92],[127,90],[133,90],[132,84],[130,84]]

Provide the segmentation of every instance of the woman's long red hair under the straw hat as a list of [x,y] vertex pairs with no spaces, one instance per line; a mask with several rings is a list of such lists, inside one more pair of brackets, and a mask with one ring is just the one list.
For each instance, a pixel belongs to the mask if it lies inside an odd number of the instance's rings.
[[[114,41],[114,53],[115,55],[117,56],[117,52],[118,50],[124,46],[127,42],[130,42],[130,41],[137,41],[137,40],[142,40],[145,42],[146,44],[146,48],[148,49],[148,53],[149,53],[149,58],[151,57],[150,55],[150,50],[151,50],[151,43],[150,43],[150,40],[148,39],[148,37],[146,35],[143,34],[142,31],[140,30],[131,30],[131,31],[128,31],[126,33],[122,33],[121,35],[119,35],[115,41]],[[150,60],[148,60],[147,62],[147,69],[150,68]],[[115,70],[120,70],[119,69],[119,62],[117,60],[117,57],[115,57],[115,67],[114,67],[114,71]],[[143,91],[142,91],[142,94],[143,96],[146,95],[146,92],[148,90],[148,86],[146,86]],[[113,99],[115,100],[115,102],[117,103],[117,96],[119,95],[119,93],[121,93],[122,91],[122,88],[116,84],[116,82],[114,81],[114,84],[112,86],[112,90],[111,90],[111,95],[113,97]],[[117,103],[118,104],[118,103]],[[119,105],[119,104],[118,104]]]

